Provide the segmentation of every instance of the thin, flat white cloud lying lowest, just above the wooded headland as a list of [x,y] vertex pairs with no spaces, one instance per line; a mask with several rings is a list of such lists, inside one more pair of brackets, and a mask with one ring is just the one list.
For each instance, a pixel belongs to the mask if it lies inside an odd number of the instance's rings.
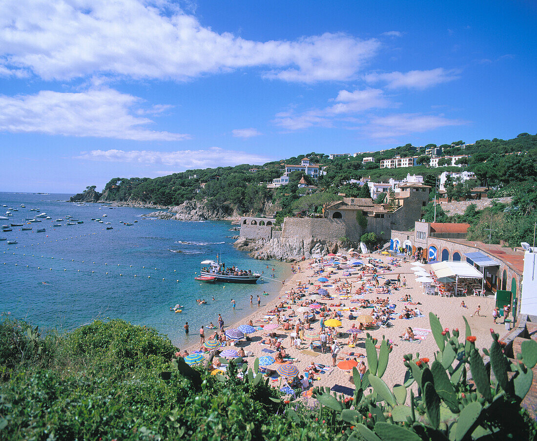
[[90,161],[123,162],[140,165],[162,164],[175,166],[176,171],[204,169],[208,167],[227,167],[237,164],[264,164],[273,158],[237,150],[224,150],[212,147],[206,150],[91,150],[82,151],[76,159]]

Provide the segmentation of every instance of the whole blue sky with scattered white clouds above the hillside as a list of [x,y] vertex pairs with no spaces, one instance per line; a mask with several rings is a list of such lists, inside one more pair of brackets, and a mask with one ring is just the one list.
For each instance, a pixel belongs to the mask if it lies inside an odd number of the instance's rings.
[[4,0],[0,191],[535,133],[534,2]]

